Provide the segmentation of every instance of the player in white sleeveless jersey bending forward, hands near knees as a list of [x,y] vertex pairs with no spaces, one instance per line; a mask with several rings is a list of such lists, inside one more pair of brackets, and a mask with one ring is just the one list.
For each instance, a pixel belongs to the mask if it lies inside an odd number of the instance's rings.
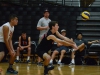
[[[16,53],[12,44],[12,36],[14,32],[14,26],[18,24],[18,18],[16,15],[10,15],[9,22],[3,24],[0,27],[0,55],[8,54],[10,55],[9,67],[7,73],[17,74],[18,72],[13,69],[13,64],[15,60]],[[3,56],[0,56],[0,60]]]

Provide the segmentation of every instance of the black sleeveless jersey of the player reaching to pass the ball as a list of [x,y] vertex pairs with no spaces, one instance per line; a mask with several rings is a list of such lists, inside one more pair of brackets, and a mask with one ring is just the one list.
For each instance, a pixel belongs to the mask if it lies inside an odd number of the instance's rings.
[[47,37],[49,35],[55,35],[55,33],[52,34],[52,32],[49,30],[47,32],[47,34],[44,34],[44,37],[43,37],[42,41],[37,46],[37,51],[40,51],[40,50],[49,51],[52,48],[54,41],[53,40],[47,40]]

